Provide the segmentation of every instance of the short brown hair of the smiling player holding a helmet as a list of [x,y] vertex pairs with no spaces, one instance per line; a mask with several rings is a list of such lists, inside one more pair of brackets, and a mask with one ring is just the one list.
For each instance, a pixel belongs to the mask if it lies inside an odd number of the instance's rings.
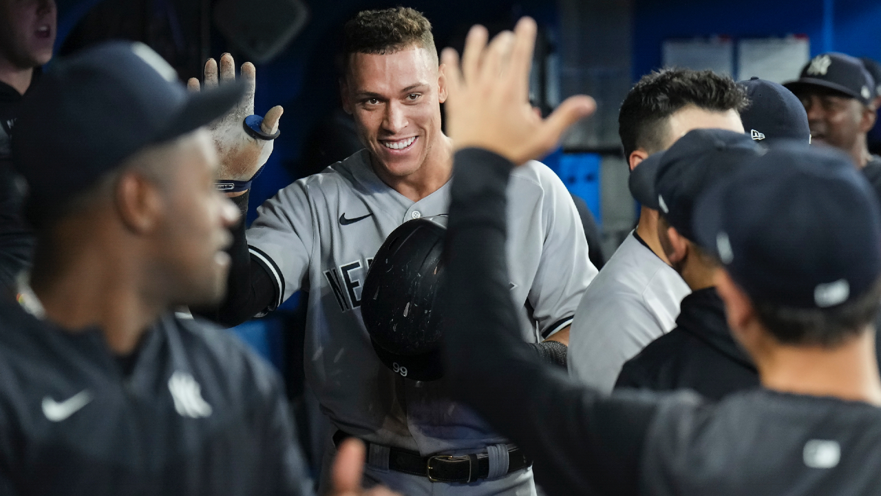
[[413,45],[437,56],[432,23],[410,7],[360,11],[345,23],[343,56],[346,67],[352,54],[395,53]]

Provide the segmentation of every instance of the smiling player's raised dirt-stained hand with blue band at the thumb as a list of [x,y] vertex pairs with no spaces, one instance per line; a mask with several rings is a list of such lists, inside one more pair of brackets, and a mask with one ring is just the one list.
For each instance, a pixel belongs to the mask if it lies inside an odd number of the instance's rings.
[[[242,121],[254,113],[254,92],[256,70],[254,64],[246,62],[241,65],[241,79],[247,85],[247,91],[238,105],[233,107],[226,116],[211,123],[211,138],[217,147],[220,159],[218,177],[235,181],[248,181],[263,167],[272,154],[272,140],[255,139],[245,132]],[[205,63],[206,88],[223,85],[235,80],[235,61],[228,53],[220,56],[220,73],[218,64],[213,58]],[[187,82],[190,91],[199,91],[199,80],[190,78]],[[285,110],[277,105],[266,112],[261,130],[266,134],[278,131],[278,119]]]

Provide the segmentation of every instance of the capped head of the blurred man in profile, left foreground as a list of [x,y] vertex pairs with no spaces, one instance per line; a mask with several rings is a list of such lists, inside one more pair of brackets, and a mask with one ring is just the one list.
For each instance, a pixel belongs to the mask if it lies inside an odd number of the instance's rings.
[[188,94],[158,54],[130,42],[85,50],[45,74],[12,140],[38,234],[33,288],[100,259],[153,301],[222,297],[227,228],[239,215],[214,189],[218,158],[200,128],[242,89]]

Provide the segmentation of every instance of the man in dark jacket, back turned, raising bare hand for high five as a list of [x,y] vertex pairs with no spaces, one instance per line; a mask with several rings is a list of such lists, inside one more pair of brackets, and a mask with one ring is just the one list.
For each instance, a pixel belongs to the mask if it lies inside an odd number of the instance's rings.
[[529,116],[535,33],[522,20],[482,54],[486,31],[472,30],[464,77],[455,52],[444,54],[458,148],[444,295],[455,394],[535,456],[549,494],[876,494],[881,214],[838,151],[772,149],[694,208],[698,241],[722,262],[716,287],[729,325],[762,388],[719,403],[687,392],[606,397],[515,339],[500,218],[507,177],[589,109],[575,100],[545,123]]

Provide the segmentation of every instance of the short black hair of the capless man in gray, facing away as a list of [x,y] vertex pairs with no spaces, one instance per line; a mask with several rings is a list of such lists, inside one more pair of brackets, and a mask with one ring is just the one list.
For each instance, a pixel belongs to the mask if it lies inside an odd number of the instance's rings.
[[649,154],[663,149],[667,118],[686,105],[740,112],[749,103],[734,79],[713,71],[663,69],[646,74],[627,94],[618,112],[618,135],[628,160],[634,150]]

